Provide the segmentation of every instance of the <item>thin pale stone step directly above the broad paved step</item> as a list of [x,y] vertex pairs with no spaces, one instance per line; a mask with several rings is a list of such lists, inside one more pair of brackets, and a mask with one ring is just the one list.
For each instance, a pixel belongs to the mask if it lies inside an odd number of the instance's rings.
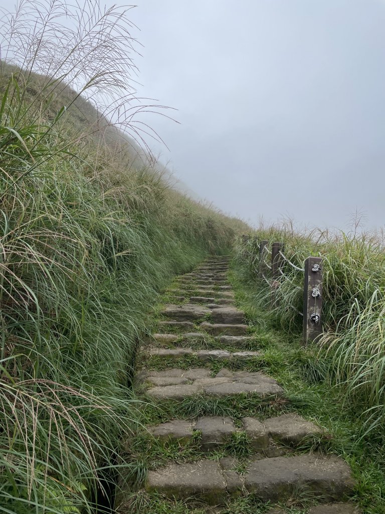
[[[199,334],[201,336],[201,334]],[[149,347],[143,348],[149,357],[163,357],[165,359],[180,358],[180,357],[195,357],[201,362],[217,361],[222,362],[224,360],[239,362],[247,361],[261,357],[260,352],[227,352],[226,350],[197,350],[194,351],[192,348],[158,348]]]

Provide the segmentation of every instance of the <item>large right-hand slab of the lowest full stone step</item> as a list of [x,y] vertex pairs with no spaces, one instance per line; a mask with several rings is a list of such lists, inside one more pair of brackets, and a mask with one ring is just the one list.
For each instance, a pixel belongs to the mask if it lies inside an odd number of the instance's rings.
[[244,485],[263,501],[284,501],[296,491],[333,501],[351,494],[354,481],[341,458],[306,454],[253,462],[246,471]]

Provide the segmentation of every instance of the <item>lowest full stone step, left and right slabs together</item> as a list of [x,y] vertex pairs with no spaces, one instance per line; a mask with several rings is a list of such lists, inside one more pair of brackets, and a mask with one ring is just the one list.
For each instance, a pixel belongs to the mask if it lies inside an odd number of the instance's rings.
[[149,471],[146,490],[168,498],[198,497],[210,505],[223,505],[228,497],[240,493],[253,493],[263,501],[285,501],[295,498],[296,492],[321,501],[341,500],[354,488],[349,466],[334,455],[264,458],[249,465],[244,482],[223,461],[171,464]]

